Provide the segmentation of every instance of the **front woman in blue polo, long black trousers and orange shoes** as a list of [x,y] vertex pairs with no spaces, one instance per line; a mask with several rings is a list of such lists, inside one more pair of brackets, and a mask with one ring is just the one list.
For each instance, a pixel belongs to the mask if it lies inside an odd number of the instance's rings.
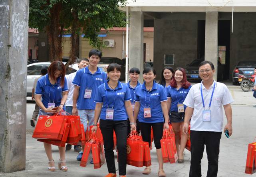
[[[107,67],[109,80],[100,85],[95,96],[95,115],[92,132],[99,128],[104,141],[104,151],[109,174],[105,177],[116,177],[115,158],[113,153],[113,132],[117,137],[118,169],[120,177],[126,174],[126,141],[127,118],[129,117],[131,129],[136,130],[133,121],[133,108],[131,106],[131,94],[126,84],[119,82],[121,67],[117,63],[111,63]],[[128,115],[128,116],[127,116]]]

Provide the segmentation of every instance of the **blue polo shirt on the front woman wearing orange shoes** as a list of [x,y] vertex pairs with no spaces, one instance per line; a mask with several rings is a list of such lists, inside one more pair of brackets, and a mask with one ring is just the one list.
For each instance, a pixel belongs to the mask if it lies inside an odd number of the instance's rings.
[[[114,109],[114,119],[113,120],[127,120],[128,116],[125,109],[125,101],[131,100],[131,94],[128,86],[125,83],[118,81],[117,87],[113,90],[108,86],[107,80],[104,84],[98,87],[95,96],[95,102],[102,103],[103,106],[101,109],[100,119],[106,120],[106,110],[107,106]],[[107,94],[107,98],[106,98]],[[115,101],[114,101],[115,100]],[[108,104],[107,104],[108,101]]]

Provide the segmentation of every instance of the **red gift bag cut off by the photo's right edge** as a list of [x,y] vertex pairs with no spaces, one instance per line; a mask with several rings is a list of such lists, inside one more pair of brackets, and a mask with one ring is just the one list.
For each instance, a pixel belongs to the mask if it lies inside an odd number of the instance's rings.
[[255,157],[256,157],[256,142],[253,142],[248,144],[246,167],[245,167],[244,173],[253,174],[256,172]]

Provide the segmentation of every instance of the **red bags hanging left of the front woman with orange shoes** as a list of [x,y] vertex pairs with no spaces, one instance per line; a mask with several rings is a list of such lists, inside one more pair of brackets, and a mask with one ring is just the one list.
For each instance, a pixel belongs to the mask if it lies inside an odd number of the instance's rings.
[[86,167],[86,165],[91,161],[91,159],[89,159],[90,154],[92,154],[93,157],[94,169],[100,168],[105,162],[103,141],[99,141],[94,132],[85,144],[85,149],[80,163],[81,167]]

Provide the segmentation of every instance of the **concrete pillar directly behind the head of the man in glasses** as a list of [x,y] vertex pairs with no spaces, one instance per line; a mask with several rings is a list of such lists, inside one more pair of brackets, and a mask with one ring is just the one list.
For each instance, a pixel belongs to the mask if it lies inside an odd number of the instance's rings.
[[205,16],[205,57],[215,67],[214,79],[218,72],[218,12],[206,11]]

